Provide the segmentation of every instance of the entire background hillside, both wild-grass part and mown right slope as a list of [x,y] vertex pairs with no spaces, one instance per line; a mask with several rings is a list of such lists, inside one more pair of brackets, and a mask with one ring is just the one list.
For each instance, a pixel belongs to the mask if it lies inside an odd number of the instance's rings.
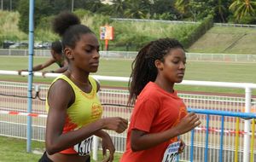
[[[198,24],[169,24],[157,21],[119,21],[110,20],[108,16],[90,14],[80,10],[83,15],[82,23],[90,26],[99,36],[99,28],[105,23],[114,27],[114,40],[109,42],[109,50],[137,50],[143,44],[156,38],[177,38],[184,40],[198,27]],[[4,40],[19,42],[26,40],[27,34],[20,32],[17,24],[19,13],[0,11],[0,46]],[[50,20],[50,19],[49,19]],[[43,21],[44,22],[44,21]],[[51,42],[58,37],[50,31],[48,21],[42,23],[35,31],[35,41]],[[104,41],[100,41],[104,44]],[[226,54],[255,54],[256,55],[256,28],[214,26],[200,39],[189,47],[189,52],[226,53]],[[128,46],[127,46],[128,45]],[[102,46],[103,47],[103,46]],[[1,48],[1,47],[0,47]]]

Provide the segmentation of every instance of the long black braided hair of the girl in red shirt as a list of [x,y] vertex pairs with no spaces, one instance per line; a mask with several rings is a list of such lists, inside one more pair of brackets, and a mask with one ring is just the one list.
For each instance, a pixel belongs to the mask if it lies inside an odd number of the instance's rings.
[[131,77],[129,80],[129,100],[128,106],[134,104],[137,95],[149,81],[154,82],[157,77],[157,68],[154,66],[155,60],[164,61],[164,56],[171,49],[183,48],[183,45],[174,38],[160,38],[145,45],[141,49],[135,60],[131,64]]

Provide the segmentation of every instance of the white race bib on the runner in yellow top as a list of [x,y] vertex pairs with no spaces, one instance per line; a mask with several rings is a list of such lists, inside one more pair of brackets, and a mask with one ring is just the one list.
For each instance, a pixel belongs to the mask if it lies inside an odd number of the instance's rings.
[[86,156],[90,154],[92,147],[93,136],[86,138],[83,142],[76,144],[73,149],[79,153],[80,156]]

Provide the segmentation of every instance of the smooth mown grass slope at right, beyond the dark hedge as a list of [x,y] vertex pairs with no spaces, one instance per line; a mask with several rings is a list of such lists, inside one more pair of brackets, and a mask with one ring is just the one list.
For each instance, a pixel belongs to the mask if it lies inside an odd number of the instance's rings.
[[214,26],[192,46],[189,52],[256,55],[256,28]]

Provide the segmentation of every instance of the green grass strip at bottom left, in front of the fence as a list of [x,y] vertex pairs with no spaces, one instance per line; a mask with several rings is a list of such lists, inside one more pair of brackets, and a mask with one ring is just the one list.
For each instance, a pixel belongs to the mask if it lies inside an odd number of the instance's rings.
[[[44,153],[44,142],[32,142],[32,152],[26,153],[26,140],[0,136],[0,162],[36,162]],[[37,153],[35,153],[35,151]],[[118,162],[122,153],[115,153],[113,162]],[[98,152],[98,160],[102,161],[102,152]],[[95,160],[91,160],[96,162]]]

